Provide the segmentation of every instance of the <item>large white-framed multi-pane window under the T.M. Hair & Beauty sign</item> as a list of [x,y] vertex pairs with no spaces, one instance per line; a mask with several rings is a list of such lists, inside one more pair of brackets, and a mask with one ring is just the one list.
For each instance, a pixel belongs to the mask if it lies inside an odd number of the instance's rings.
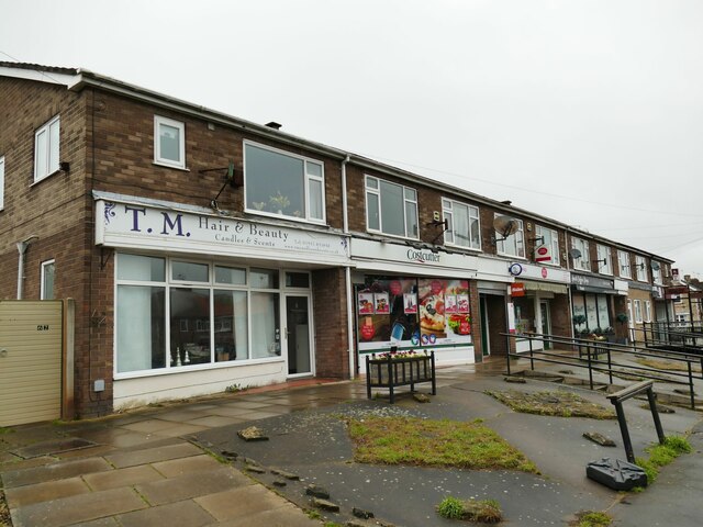
[[116,372],[280,357],[278,274],[118,255]]

